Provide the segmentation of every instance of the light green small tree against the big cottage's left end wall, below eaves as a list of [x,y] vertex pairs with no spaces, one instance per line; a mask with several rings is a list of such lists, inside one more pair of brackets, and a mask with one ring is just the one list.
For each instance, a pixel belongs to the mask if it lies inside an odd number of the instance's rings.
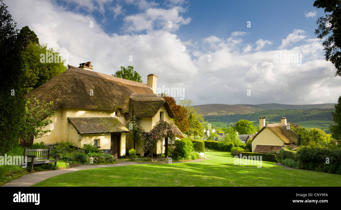
[[[53,102],[42,103],[36,98],[28,98],[25,106],[25,118],[24,123],[20,128],[19,134],[21,135],[33,135],[35,139],[41,138],[45,133],[51,132],[51,130],[45,130],[45,127],[52,123],[49,119],[55,114],[55,111],[50,110],[53,106]],[[43,120],[47,117],[46,120]]]

